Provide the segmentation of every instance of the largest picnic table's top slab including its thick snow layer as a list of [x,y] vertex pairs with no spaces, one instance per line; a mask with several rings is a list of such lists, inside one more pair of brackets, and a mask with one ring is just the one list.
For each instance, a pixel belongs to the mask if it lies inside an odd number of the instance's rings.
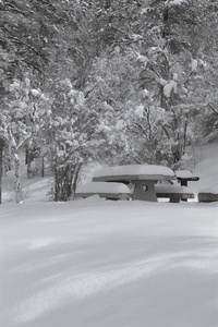
[[93,181],[146,181],[172,180],[174,172],[164,166],[157,165],[125,165],[102,168],[94,173]]

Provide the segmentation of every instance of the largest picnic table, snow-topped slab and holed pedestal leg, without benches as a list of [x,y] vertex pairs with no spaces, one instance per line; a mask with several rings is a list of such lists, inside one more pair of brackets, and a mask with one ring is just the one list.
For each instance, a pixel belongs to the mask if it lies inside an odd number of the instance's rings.
[[126,165],[100,169],[94,173],[93,182],[118,182],[134,185],[132,199],[157,202],[157,181],[177,179],[174,172],[157,165]]

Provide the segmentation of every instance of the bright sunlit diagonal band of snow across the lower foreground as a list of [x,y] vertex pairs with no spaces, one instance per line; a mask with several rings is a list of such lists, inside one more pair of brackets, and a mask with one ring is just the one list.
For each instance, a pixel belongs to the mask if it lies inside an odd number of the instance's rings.
[[[178,261],[178,262],[177,262]],[[218,271],[215,261],[210,255],[202,259],[186,257],[186,253],[164,254],[153,258],[125,264],[116,269],[101,269],[75,276],[62,276],[51,288],[40,291],[23,301],[15,310],[17,323],[27,323],[37,319],[47,312],[55,311],[73,300],[83,300],[98,292],[110,291],[135,280],[162,274],[170,269],[197,269],[203,272]],[[161,272],[160,272],[161,271]]]

